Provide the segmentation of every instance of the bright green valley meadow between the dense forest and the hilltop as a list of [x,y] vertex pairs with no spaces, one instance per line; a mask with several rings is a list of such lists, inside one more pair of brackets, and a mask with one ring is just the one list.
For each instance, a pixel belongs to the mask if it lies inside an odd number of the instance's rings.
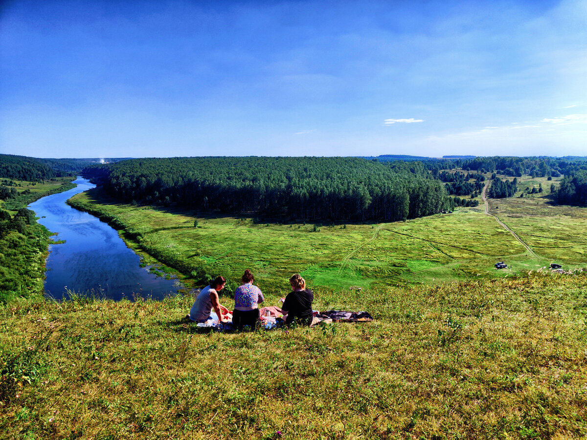
[[[550,182],[542,180],[539,197],[490,199],[491,212],[536,256],[485,215],[483,205],[389,224],[305,225],[118,204],[97,190],[76,195],[72,203],[114,219],[131,231],[126,235],[131,247],[184,275],[221,274],[236,281],[248,268],[262,289],[284,295],[295,272],[312,286],[343,289],[517,276],[554,261],[565,269],[586,267],[587,209],[552,207]],[[538,187],[542,180],[521,179],[519,188]],[[501,260],[512,268],[495,270]]]

